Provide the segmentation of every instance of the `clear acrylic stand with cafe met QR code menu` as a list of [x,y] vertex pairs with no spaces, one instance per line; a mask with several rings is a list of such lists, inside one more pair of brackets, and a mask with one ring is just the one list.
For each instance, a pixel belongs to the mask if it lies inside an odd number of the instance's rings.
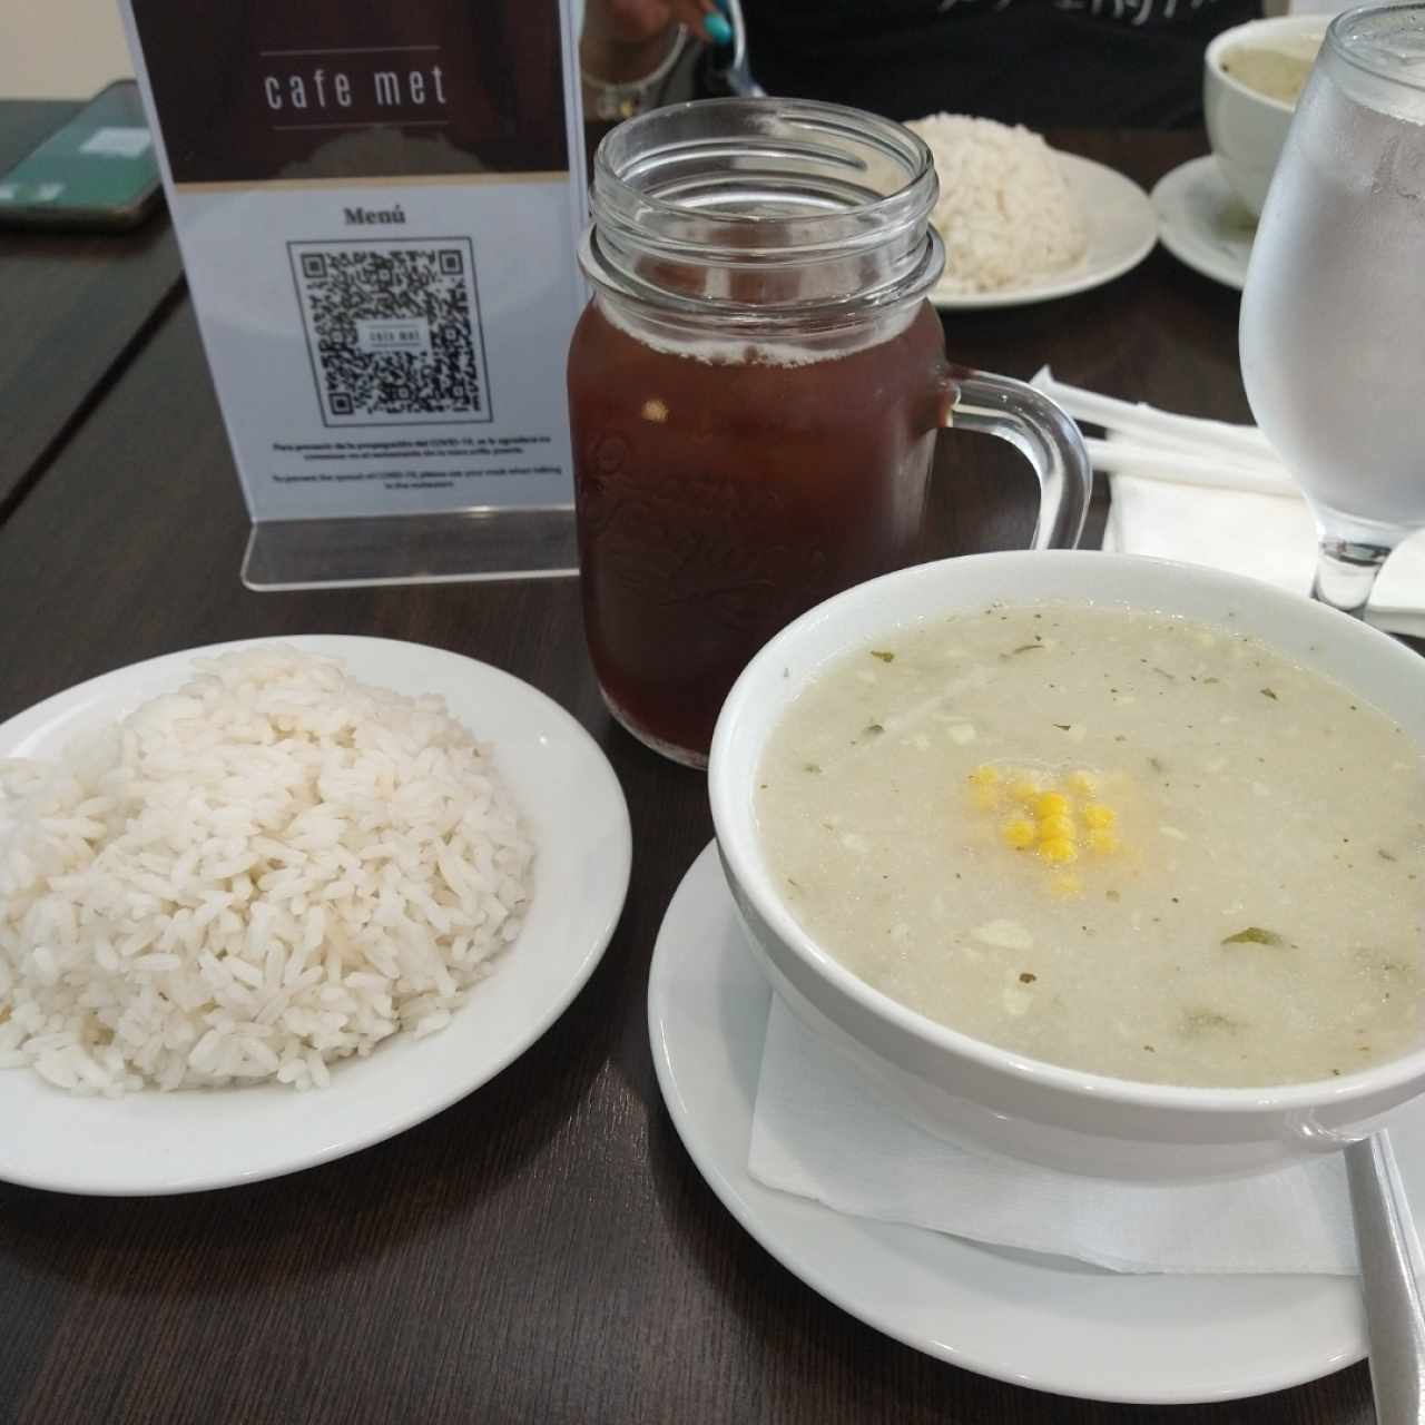
[[125,24],[252,519],[242,581],[576,573],[569,0],[125,0]]

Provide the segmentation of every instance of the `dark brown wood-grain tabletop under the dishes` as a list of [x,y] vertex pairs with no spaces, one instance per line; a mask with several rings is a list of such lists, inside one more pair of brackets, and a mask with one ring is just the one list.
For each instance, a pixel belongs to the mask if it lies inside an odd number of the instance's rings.
[[[1060,141],[1144,185],[1203,147],[1171,134]],[[74,282],[91,279],[76,259]],[[559,1025],[390,1143],[180,1198],[0,1186],[0,1421],[1371,1419],[1364,1367],[1201,1409],[1035,1394],[898,1345],[777,1265],[704,1184],[654,1082],[648,958],[711,825],[703,779],[636,745],[600,705],[577,586],[244,590],[247,519],[192,312],[187,299],[155,311],[157,328],[115,379],[95,378],[91,409],[0,524],[0,720],[225,638],[355,633],[452,648],[529,680],[598,740],[633,815],[633,884]],[[1023,376],[1049,361],[1104,392],[1244,419],[1235,316],[1233,292],[1160,251],[1096,292],[946,326],[965,362]],[[63,339],[61,368],[95,362],[78,329]],[[1022,544],[1032,500],[1012,452],[942,440],[940,549]]]

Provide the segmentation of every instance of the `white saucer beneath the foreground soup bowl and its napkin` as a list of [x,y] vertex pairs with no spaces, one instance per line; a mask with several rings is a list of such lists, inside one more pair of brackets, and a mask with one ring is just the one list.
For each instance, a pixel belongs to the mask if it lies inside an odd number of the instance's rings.
[[[770,995],[708,846],[668,905],[654,949],[648,1027],[658,1083],[728,1211],[866,1325],[1016,1385],[1137,1404],[1260,1395],[1365,1355],[1354,1278],[1119,1275],[846,1217],[754,1181],[747,1149]],[[1425,1131],[1402,1133],[1396,1153],[1419,1204]]]

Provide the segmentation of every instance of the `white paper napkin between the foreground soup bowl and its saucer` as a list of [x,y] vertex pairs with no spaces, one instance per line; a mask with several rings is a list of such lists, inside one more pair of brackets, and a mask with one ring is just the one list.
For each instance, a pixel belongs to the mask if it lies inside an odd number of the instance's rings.
[[1340,1156],[1228,1183],[1143,1186],[980,1159],[899,1117],[774,995],[748,1171],[839,1213],[1124,1273],[1354,1275]]

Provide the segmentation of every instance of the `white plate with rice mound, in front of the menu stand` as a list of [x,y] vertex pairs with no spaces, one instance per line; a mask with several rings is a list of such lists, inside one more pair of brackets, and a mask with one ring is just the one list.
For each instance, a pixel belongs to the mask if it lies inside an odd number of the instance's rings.
[[487,664],[309,636],[170,654],[0,725],[0,1178],[252,1183],[477,1089],[603,956],[603,752]]

